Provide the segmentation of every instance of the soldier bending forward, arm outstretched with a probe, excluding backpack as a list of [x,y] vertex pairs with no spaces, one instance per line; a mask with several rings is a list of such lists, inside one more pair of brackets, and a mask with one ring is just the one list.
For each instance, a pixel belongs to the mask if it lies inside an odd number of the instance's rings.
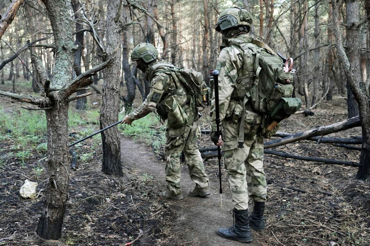
[[[197,129],[199,127],[198,112],[192,112],[190,100],[181,84],[176,83],[168,73],[152,73],[158,61],[157,49],[148,43],[137,45],[131,60],[145,73],[151,82],[150,91],[145,101],[133,112],[126,115],[122,123],[131,125],[132,121],[142,118],[154,110],[167,121],[165,145],[165,176],[166,190],[159,196],[166,199],[182,200],[180,154],[184,151],[191,180],[196,184],[189,192],[192,197],[205,197],[209,194],[208,176],[204,171],[203,160],[198,149]],[[169,64],[169,63],[168,63]],[[161,67],[166,69],[168,67]],[[194,110],[193,110],[194,111]]]

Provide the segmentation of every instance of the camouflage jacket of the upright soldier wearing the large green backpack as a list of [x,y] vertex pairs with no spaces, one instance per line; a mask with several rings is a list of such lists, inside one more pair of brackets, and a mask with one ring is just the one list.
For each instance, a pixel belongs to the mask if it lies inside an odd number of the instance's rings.
[[[248,43],[248,45],[257,47],[256,45],[250,43],[252,41],[252,37],[247,34],[240,34],[233,39],[229,39],[229,44],[232,43],[232,40],[235,39],[238,39],[238,41],[242,41],[243,43]],[[229,45],[226,48],[223,48],[218,56],[216,69],[220,71],[218,78],[218,94],[221,123],[225,119],[225,116],[230,116],[230,114],[232,114],[232,111],[235,110],[236,106],[238,106],[238,110],[242,110],[243,99],[240,98],[240,100],[232,100],[232,94],[235,94],[238,85],[237,83],[239,83],[240,81],[238,80],[238,77],[242,76],[243,72],[243,54],[241,52],[243,51],[237,46]],[[250,57],[253,57],[252,50],[250,50]],[[211,105],[211,129],[212,131],[216,131],[214,92]],[[248,108],[248,110],[250,110],[250,108]]]

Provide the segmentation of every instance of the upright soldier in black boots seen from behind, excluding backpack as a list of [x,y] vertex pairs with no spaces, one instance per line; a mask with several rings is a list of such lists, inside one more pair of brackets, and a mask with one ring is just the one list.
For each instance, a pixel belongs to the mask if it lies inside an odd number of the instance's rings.
[[[249,45],[258,48],[251,43],[252,37],[247,35],[250,25],[252,25],[252,14],[236,7],[223,11],[217,20],[216,31],[222,33],[220,46],[222,50],[216,66],[220,71],[218,85],[222,132],[220,136],[216,136],[214,96],[212,99],[211,140],[215,145],[222,145],[223,161],[232,192],[233,216],[235,216],[233,226],[219,228],[217,233],[224,238],[240,242],[252,242],[249,225],[257,231],[265,229],[263,212],[267,193],[261,136],[263,115],[253,112],[250,101],[243,107],[246,88],[253,86],[255,60],[250,49],[244,51],[240,46]],[[246,56],[250,60],[244,62],[243,57]],[[242,76],[243,70],[247,76]],[[255,203],[253,212],[249,216],[248,192]]]

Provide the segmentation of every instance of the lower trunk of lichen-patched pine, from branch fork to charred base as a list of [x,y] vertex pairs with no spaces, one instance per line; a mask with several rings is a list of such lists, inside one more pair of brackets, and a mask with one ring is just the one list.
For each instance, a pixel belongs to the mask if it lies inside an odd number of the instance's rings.
[[63,218],[68,198],[68,105],[59,104],[46,111],[48,128],[47,183],[44,209],[38,221],[37,235],[44,239],[62,236]]

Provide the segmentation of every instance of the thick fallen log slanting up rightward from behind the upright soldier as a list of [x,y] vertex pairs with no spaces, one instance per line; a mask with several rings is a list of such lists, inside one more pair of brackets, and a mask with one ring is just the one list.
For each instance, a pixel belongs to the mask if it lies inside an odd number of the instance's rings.
[[276,140],[265,142],[263,148],[264,149],[273,148],[273,147],[280,146],[280,145],[286,145],[287,143],[293,143],[293,142],[300,141],[303,139],[312,138],[314,136],[323,136],[323,135],[327,135],[333,132],[340,132],[340,131],[344,131],[346,129],[350,129],[353,127],[359,127],[360,124],[361,124],[360,117],[355,116],[355,117],[346,119],[342,122],[337,122],[331,125],[318,127],[318,128],[306,131],[306,132],[300,132],[297,134],[287,136],[282,139],[276,139]]

